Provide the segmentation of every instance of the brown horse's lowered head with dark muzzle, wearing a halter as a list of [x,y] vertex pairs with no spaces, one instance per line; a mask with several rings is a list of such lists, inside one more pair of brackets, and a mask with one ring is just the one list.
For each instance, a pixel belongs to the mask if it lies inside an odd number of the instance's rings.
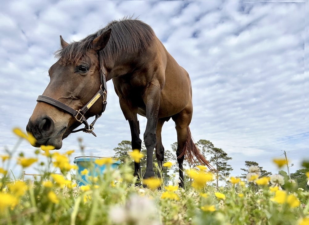
[[[91,40],[88,38],[71,44],[60,36],[62,48],[57,53],[59,59],[49,69],[50,82],[39,96],[26,128],[36,138],[36,147],[52,145],[60,149],[62,140],[75,128],[82,122],[87,124],[89,117],[102,113],[106,99],[102,94],[104,91],[98,94],[98,90],[102,90],[100,71],[103,67],[99,51],[104,49],[110,35],[111,29],[107,29]],[[74,115],[82,108],[86,109],[84,114]]]

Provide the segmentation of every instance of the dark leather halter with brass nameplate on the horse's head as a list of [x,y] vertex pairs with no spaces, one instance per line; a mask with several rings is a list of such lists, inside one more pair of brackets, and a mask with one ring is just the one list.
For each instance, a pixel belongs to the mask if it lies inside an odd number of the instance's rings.
[[[100,62],[100,58],[99,58],[99,62]],[[100,68],[101,68],[100,69],[100,82],[101,82],[100,90],[95,94],[95,96],[93,96],[93,98],[91,98],[91,100],[83,108],[81,108],[79,110],[75,110],[75,109],[71,108],[70,106],[63,104],[62,102],[59,102],[58,100],[55,100],[51,97],[44,96],[44,95],[40,95],[37,98],[36,101],[37,102],[44,102],[44,103],[50,104],[50,105],[52,105],[56,108],[60,108],[60,109],[64,110],[66,113],[69,113],[72,116],[74,116],[74,118],[78,122],[83,123],[85,125],[84,128],[73,130],[71,133],[83,131],[85,133],[93,134],[96,137],[96,134],[93,132],[93,129],[94,129],[93,125],[95,124],[96,120],[102,115],[102,113],[105,111],[106,104],[107,104],[107,101],[106,101],[107,86],[106,86],[106,78],[105,78],[105,68],[104,68],[103,65],[100,65]],[[87,122],[87,119],[85,117],[85,113],[101,96],[103,98],[102,112],[95,115],[95,120],[89,125],[88,122]]]

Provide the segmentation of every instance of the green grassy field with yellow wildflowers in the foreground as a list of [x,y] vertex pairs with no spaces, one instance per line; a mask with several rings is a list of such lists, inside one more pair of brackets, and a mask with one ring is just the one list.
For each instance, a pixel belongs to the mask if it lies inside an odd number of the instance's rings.
[[[18,129],[14,132],[19,141],[33,141]],[[65,175],[74,171],[76,165],[69,163],[72,151],[60,154],[51,149],[35,149],[48,163],[23,154],[17,159],[1,155],[0,224],[309,224],[309,193],[281,176],[259,177],[255,168],[246,181],[230,177],[230,184],[218,190],[204,166],[186,171],[191,181],[185,189],[163,186],[158,179],[143,180],[148,186],[143,188],[131,185],[136,180],[127,164],[114,170],[108,166],[110,160],[99,159],[95,163],[107,166],[104,174],[91,177],[91,169],[83,170],[91,182],[78,187],[68,176],[50,173],[51,168]],[[14,163],[23,169],[40,168],[44,176],[34,181],[7,177],[6,165]]]

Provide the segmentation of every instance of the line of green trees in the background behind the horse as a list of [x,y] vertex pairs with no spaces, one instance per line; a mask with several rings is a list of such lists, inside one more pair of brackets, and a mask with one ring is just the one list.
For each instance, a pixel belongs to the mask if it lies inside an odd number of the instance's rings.
[[[201,152],[201,154],[207,159],[212,166],[215,168],[214,176],[215,176],[215,186],[218,188],[219,181],[226,182],[228,180],[227,178],[231,175],[231,171],[233,168],[230,164],[228,164],[229,160],[232,160],[232,157],[228,156],[225,151],[222,150],[222,148],[216,148],[214,147],[214,144],[210,142],[209,140],[200,139],[198,142],[196,142],[196,146]],[[174,178],[175,174],[178,173],[178,163],[177,163],[177,157],[176,157],[176,149],[177,149],[177,142],[174,142],[171,144],[171,149],[165,149],[164,151],[164,161],[165,162],[172,162],[175,163],[172,165],[170,169],[162,168],[162,175],[163,175],[163,182],[165,185],[168,185],[168,183]],[[120,143],[118,143],[118,146],[113,149],[115,152],[115,155],[113,158],[119,160],[121,164],[124,164],[126,160],[128,160],[129,152],[132,151],[132,145],[131,141],[123,140]],[[141,169],[142,172],[146,169],[146,147],[144,143],[142,143],[142,149],[141,152],[144,154],[144,157],[141,159]],[[131,160],[129,162],[129,165],[132,169],[134,169],[134,163]],[[189,164],[184,160],[184,168],[194,168],[196,164]],[[248,173],[248,168],[250,166],[257,166],[260,168],[260,176],[270,176],[272,175],[272,172],[268,172],[263,167],[259,166],[259,163],[255,161],[245,161],[245,168],[241,168],[242,171],[245,173],[241,174],[239,177],[245,179],[246,175]],[[155,151],[153,153],[153,167],[154,172],[156,174],[156,170],[158,169],[157,159],[155,156]],[[295,173],[291,173],[291,179],[294,179],[299,187],[309,190],[309,185],[307,185],[307,176],[306,172],[308,172],[309,169],[300,169],[297,170]],[[285,171],[279,171],[279,174],[285,176],[287,179],[287,174]],[[189,179],[188,177],[185,177],[185,179]]]

